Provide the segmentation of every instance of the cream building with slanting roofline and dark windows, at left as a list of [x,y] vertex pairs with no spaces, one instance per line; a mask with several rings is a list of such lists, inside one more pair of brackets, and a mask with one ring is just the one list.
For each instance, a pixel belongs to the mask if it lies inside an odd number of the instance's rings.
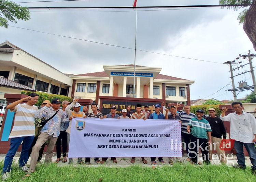
[[[5,41],[0,44],[0,76],[39,92],[71,96],[72,79],[37,57]],[[70,89],[70,90],[69,90]],[[4,93],[20,93],[22,89],[0,87]]]

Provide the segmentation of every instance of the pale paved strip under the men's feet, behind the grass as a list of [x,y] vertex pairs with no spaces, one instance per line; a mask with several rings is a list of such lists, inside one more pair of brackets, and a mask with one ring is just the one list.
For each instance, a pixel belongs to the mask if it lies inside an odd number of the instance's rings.
[[[15,163],[18,163],[18,159],[19,159],[19,155],[20,155],[20,152],[17,152],[15,157],[14,157],[14,162]],[[4,160],[4,157],[5,157],[5,154],[0,154],[0,161],[3,161]],[[45,157],[45,153],[43,154],[43,157],[42,157],[42,162],[44,161],[44,157]],[[57,154],[54,153],[53,155],[53,158],[52,158],[52,161],[54,162],[55,160],[57,159]],[[101,158],[100,158],[101,159]],[[101,165],[101,164],[97,164],[95,161],[94,161],[94,158],[91,158],[91,165],[85,165],[85,166],[90,166],[90,167],[98,167],[98,166],[107,166],[107,167],[128,167],[128,166],[132,166],[132,165],[142,165],[142,166],[148,166],[150,167],[151,166],[151,160],[150,158],[145,158],[147,161],[148,161],[148,164],[143,164],[143,162],[141,161],[141,158],[136,158],[135,159],[135,163],[134,164],[131,164],[130,163],[130,160],[131,158],[116,158],[117,160],[117,163],[114,164],[110,158],[105,162],[104,165]],[[83,158],[83,161],[85,159]],[[166,162],[165,165],[168,165],[170,166],[170,164],[168,163],[169,162],[169,159],[168,158],[163,158],[163,160]],[[186,161],[186,156],[183,156],[182,158],[179,159],[180,160],[180,163],[187,163]],[[77,159],[73,159],[74,161],[74,165],[77,165]],[[202,162],[202,158],[200,158],[200,161]],[[177,161],[174,161],[174,163],[177,162]],[[28,164],[30,163],[30,158],[29,158],[29,161],[28,161]],[[162,166],[161,163],[158,163],[158,166]],[[251,162],[250,162],[250,159],[249,157],[245,157],[245,163],[247,166],[251,166]],[[216,154],[213,155],[213,160],[211,162],[212,165],[220,165],[220,161],[218,159],[218,156]],[[237,164],[237,158],[235,155],[232,156],[228,156],[228,163],[227,165],[229,166],[232,166],[233,164]],[[66,163],[62,163],[62,162],[59,162],[58,163],[59,166],[65,166],[65,165],[68,165],[68,162]]]

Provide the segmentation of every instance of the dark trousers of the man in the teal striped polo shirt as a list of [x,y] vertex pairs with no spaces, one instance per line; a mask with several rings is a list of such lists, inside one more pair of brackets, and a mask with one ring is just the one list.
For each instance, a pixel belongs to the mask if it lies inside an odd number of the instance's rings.
[[203,156],[203,162],[205,164],[210,164],[210,155],[209,155],[209,151],[208,151],[208,139],[200,139],[200,138],[196,138],[195,136],[193,136],[192,134],[190,135],[190,140],[191,144],[190,148],[189,148],[189,153],[188,153],[188,157],[192,159],[193,162],[197,163],[198,162],[198,154],[199,154],[199,146],[201,146],[201,152],[202,152],[202,156]]

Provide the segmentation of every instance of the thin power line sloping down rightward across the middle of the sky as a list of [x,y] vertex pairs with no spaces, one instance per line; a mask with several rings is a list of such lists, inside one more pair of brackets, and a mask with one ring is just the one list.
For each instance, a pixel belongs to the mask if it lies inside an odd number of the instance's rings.
[[[9,26],[11,26],[11,25],[9,25]],[[108,44],[108,43],[102,43],[102,42],[96,42],[96,41],[91,41],[91,40],[85,40],[85,39],[80,39],[80,38],[75,38],[75,37],[69,37],[69,36],[65,36],[65,35],[58,35],[58,34],[53,34],[53,33],[48,33],[48,32],[42,32],[42,31],[37,31],[37,30],[32,30],[32,29],[26,29],[26,28],[21,28],[21,27],[18,27],[18,26],[11,26],[11,27],[18,28],[18,29],[23,29],[23,30],[34,31],[34,32],[40,32],[40,33],[49,34],[49,35],[56,35],[56,36],[66,37],[66,38],[71,38],[71,39],[76,39],[76,40],[82,40],[82,41],[87,41],[87,42],[92,42],[92,43],[98,43],[98,44],[103,44],[103,45],[110,45],[110,46],[118,47],[118,48],[124,48],[124,49],[135,50],[135,49],[133,49],[133,48],[123,47],[123,46],[119,46],[119,45],[113,45],[113,44]],[[137,51],[142,51],[142,52],[148,52],[148,53],[154,53],[154,54],[165,55],[165,56],[172,56],[172,57],[179,57],[179,58],[184,58],[184,59],[192,59],[192,60],[197,60],[197,61],[204,61],[204,62],[212,62],[212,63],[222,64],[222,63],[220,63],[220,62],[207,61],[207,60],[202,60],[202,59],[194,59],[194,58],[183,57],[183,56],[174,56],[174,55],[170,55],[170,54],[163,54],[163,53],[157,53],[157,52],[146,51],[146,50],[140,50],[140,49],[136,49],[136,50],[137,50]]]

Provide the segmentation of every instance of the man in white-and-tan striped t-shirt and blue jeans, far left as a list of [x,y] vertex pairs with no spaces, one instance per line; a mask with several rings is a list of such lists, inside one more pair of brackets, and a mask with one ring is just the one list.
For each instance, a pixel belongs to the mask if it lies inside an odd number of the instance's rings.
[[[27,101],[27,103],[21,104]],[[9,135],[10,149],[4,158],[4,166],[2,171],[2,179],[6,180],[10,177],[13,157],[22,143],[22,152],[19,157],[19,167],[23,171],[28,171],[26,163],[28,161],[28,152],[35,135],[34,114],[38,111],[37,106],[38,94],[31,93],[26,98],[22,98],[14,103],[9,104],[6,108],[11,112],[16,112],[14,117],[14,125]]]

